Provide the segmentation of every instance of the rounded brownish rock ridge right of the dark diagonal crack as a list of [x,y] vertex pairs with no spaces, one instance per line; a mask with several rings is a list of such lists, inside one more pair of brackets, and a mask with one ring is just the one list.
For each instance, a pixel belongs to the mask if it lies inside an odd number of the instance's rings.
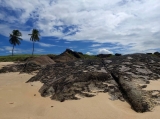
[[135,111],[147,112],[153,109],[154,102],[147,91],[141,90],[139,85],[123,80],[123,78],[119,78],[118,82]]

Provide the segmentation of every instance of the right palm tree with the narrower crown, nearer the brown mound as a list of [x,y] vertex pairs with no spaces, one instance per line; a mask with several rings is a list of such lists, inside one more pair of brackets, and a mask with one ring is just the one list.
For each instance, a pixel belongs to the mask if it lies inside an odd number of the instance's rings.
[[37,29],[33,29],[33,30],[32,30],[32,34],[28,34],[28,35],[31,35],[30,40],[33,42],[33,50],[32,50],[32,56],[33,56],[33,52],[34,52],[34,42],[40,40],[40,38],[39,38],[40,34],[39,34],[39,31],[38,31]]

